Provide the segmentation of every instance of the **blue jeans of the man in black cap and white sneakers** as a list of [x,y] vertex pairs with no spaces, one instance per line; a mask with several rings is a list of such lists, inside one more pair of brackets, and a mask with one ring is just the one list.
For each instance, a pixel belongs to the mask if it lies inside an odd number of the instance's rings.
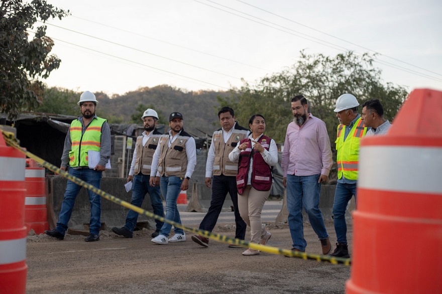
[[[161,177],[160,187],[161,193],[164,198],[166,198],[166,219],[174,221],[181,224],[181,218],[179,216],[178,207],[176,206],[176,200],[181,192],[181,183],[183,178],[180,177]],[[164,236],[169,236],[172,225],[164,223],[161,227],[160,234]],[[184,231],[179,228],[175,228],[175,234],[184,234]]]

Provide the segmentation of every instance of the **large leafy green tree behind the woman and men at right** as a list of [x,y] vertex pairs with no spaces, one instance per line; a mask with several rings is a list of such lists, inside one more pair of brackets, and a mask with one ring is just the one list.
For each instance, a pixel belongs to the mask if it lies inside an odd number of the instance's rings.
[[284,142],[287,124],[293,119],[290,99],[302,94],[311,113],[326,123],[334,142],[338,120],[333,110],[340,95],[352,93],[360,104],[379,99],[384,106],[384,117],[391,121],[408,94],[401,86],[382,83],[381,70],[373,67],[374,58],[368,53],[359,56],[346,52],[332,58],[301,51],[293,66],[262,78],[255,87],[244,83],[229,95],[218,97],[218,102],[233,107],[243,126],[248,126],[251,115],[262,114],[266,119],[266,134]]

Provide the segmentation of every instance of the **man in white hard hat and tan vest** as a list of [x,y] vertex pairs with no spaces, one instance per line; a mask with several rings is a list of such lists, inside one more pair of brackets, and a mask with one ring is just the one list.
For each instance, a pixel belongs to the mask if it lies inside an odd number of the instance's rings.
[[[129,171],[128,183],[132,181],[131,204],[141,207],[146,193],[149,193],[154,214],[164,216],[163,202],[160,196],[160,178],[155,177],[155,186],[149,184],[152,157],[160,141],[161,132],[157,131],[158,114],[155,110],[148,108],[141,117],[145,131],[137,137],[134,156],[132,157],[131,170]],[[132,238],[134,228],[137,225],[138,213],[129,210],[126,217],[126,224],[122,228],[113,227],[112,231],[120,236]],[[152,237],[158,236],[163,222],[155,220],[156,230]]]

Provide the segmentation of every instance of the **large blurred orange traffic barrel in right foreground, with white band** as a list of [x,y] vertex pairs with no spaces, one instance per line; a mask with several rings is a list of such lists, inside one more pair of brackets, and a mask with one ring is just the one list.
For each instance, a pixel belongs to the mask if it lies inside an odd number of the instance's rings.
[[347,293],[442,293],[442,92],[411,92],[361,141]]

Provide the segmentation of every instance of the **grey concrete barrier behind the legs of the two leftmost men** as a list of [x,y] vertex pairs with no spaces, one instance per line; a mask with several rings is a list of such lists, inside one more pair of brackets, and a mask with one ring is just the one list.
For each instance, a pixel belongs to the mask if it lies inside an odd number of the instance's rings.
[[[126,178],[102,178],[101,190],[120,198],[126,202],[131,202],[132,192],[126,192],[124,184],[127,183]],[[61,176],[47,176],[47,208],[48,208],[48,223],[51,229],[55,228],[55,224],[58,220],[58,215],[61,209],[61,203],[63,201],[64,192],[66,190],[67,179]],[[143,209],[152,212],[152,205],[149,196],[147,196],[143,205]],[[101,199],[101,222],[106,223],[107,227],[123,226],[126,222],[126,216],[129,209],[111,202],[106,199]],[[81,188],[78,194],[74,209],[72,211],[71,219],[68,226],[71,229],[83,229],[84,223],[89,223],[90,219],[90,203],[87,190]],[[149,219],[146,216],[140,215],[138,222],[148,222],[149,229],[155,228],[153,219]]]

